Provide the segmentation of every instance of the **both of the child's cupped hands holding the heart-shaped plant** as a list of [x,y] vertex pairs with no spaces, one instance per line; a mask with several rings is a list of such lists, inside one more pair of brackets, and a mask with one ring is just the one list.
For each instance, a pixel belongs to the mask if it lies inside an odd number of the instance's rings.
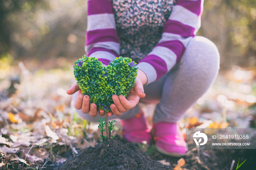
[[[123,112],[132,109],[138,104],[140,98],[144,98],[146,95],[144,94],[143,85],[147,83],[146,74],[138,70],[138,75],[136,77],[136,82],[127,97],[125,98],[123,95],[119,97],[117,95],[113,95],[112,99],[114,104],[110,105],[112,112],[108,112],[108,116],[112,116],[113,114],[120,116]],[[88,95],[82,94],[82,90],[80,90],[78,84],[74,83],[67,90],[67,94],[72,95],[78,91],[78,96],[75,101],[75,108],[81,109],[82,112],[87,114],[90,111],[90,116],[95,117],[97,115],[97,106],[95,103],[90,104],[90,98]],[[104,116],[104,111],[99,110],[99,115]]]

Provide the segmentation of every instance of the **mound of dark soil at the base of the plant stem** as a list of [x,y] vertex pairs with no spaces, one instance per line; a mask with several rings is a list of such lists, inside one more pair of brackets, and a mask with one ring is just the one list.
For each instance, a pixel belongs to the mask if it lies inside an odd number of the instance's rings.
[[108,139],[95,147],[88,147],[76,157],[67,160],[60,170],[166,170],[163,165],[150,157],[134,144],[123,144],[115,139]]

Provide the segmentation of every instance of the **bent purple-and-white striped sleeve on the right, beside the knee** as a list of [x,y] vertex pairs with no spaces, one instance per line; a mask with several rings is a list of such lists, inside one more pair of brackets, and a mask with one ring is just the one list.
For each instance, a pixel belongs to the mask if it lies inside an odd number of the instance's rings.
[[203,0],[177,0],[163,27],[157,46],[136,66],[147,75],[147,84],[166,74],[181,58],[201,26]]

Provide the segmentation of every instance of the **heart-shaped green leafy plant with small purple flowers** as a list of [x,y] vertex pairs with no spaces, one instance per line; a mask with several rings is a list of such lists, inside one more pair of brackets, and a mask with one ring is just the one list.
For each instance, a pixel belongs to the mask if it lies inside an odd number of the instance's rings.
[[84,55],[75,62],[74,75],[84,95],[90,97],[98,110],[111,111],[112,95],[127,96],[135,83],[138,68],[130,58],[120,56],[108,66],[98,59]]

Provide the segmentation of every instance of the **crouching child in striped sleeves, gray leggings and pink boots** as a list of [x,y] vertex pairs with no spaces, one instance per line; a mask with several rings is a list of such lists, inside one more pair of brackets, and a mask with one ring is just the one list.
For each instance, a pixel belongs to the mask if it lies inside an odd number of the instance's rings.
[[[112,96],[108,116],[122,119],[128,141],[149,143],[150,129],[137,104],[157,102],[153,116],[157,150],[184,155],[186,143],[177,121],[208,90],[219,70],[217,47],[195,36],[203,0],[87,2],[87,55],[106,65],[119,56],[138,63],[134,87],[126,98]],[[96,105],[89,103],[89,96],[81,94],[76,83],[67,93],[75,94],[75,108],[82,118],[97,122],[104,115],[103,110],[97,115]]]

